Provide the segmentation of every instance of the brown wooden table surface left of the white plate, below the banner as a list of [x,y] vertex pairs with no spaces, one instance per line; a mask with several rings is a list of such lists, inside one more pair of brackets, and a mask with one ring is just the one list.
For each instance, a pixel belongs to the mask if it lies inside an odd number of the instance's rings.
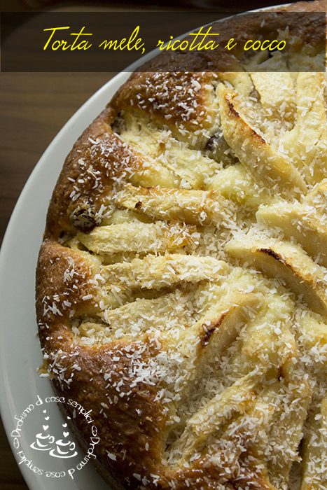
[[[20,192],[64,123],[116,73],[0,73],[0,240]],[[0,421],[0,490],[28,490]]]

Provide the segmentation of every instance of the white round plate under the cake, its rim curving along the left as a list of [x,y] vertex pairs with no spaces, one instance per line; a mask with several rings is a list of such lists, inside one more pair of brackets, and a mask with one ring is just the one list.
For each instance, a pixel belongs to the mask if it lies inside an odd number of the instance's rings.
[[[104,109],[118,87],[129,73],[120,73],[96,92],[68,121],[50,144],[36,165],[15,206],[0,253],[0,407],[9,444],[20,463],[20,470],[29,489],[33,490],[108,490],[92,464],[88,462],[81,470],[67,475],[69,469],[84,457],[81,450],[73,459],[50,458],[48,451],[34,451],[30,444],[42,433],[43,416],[49,416],[51,433],[59,437],[64,419],[55,402],[45,402],[53,395],[49,380],[41,378],[36,370],[42,356],[39,339],[36,337],[36,314],[34,307],[35,269],[46,223],[46,211],[53,188],[62,169],[64,159],[85,127]],[[36,405],[37,396],[43,405]],[[25,409],[29,405],[29,413]],[[47,410],[43,414],[43,408]],[[21,417],[25,412],[26,416]],[[15,419],[15,416],[17,419]],[[21,419],[22,423],[18,420]],[[11,436],[20,424],[15,449],[15,437]],[[17,442],[16,442],[17,444]],[[26,460],[22,461],[22,452]],[[20,454],[18,454],[20,453]],[[43,470],[39,475],[27,466]],[[64,477],[46,477],[46,470],[65,472]]]

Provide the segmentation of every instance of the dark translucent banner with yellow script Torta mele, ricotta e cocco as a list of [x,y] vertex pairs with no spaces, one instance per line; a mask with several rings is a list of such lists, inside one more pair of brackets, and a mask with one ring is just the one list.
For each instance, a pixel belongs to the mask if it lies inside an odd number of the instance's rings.
[[325,71],[325,13],[219,16],[1,13],[1,71]]

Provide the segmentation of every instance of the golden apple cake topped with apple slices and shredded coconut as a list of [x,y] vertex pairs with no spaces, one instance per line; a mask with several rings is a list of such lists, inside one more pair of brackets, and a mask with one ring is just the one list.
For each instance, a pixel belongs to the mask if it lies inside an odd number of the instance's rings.
[[40,370],[113,488],[327,488],[326,101],[286,65],[133,73],[64,162]]

